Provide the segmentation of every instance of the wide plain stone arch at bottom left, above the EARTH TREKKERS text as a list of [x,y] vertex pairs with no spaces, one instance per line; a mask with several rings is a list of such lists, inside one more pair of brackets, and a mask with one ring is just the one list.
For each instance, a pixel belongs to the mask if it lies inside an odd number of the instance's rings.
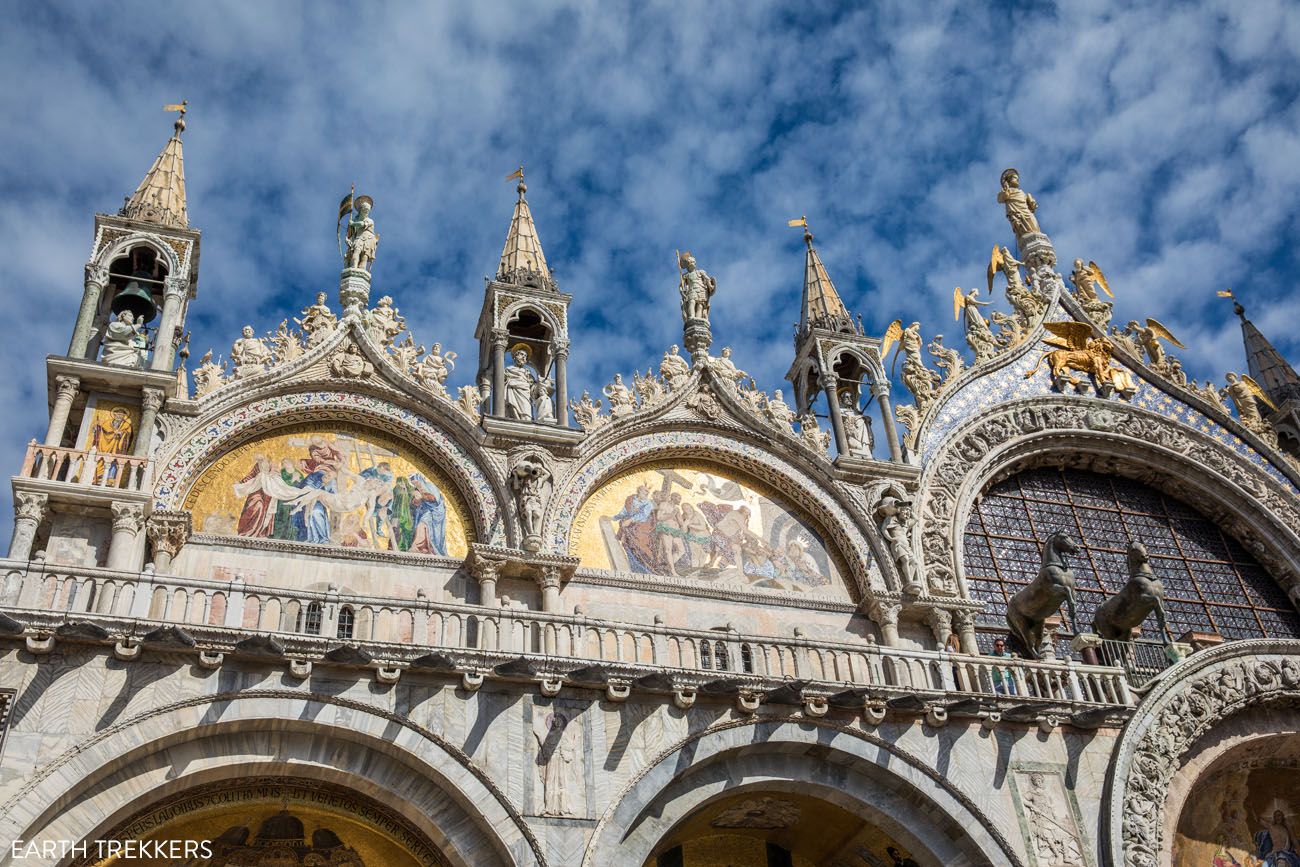
[[451,863],[545,863],[519,809],[459,747],[363,702],[274,689],[196,697],[103,729],[31,773],[0,807],[0,840],[84,840],[187,789],[277,773],[395,810]]

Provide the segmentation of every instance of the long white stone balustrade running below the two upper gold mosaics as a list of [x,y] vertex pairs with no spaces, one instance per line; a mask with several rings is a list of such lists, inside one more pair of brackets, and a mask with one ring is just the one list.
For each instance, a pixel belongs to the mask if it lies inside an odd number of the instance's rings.
[[801,688],[803,694],[823,697],[861,690],[862,697],[878,698],[958,693],[1093,706],[1134,703],[1121,668],[1071,659],[994,659],[870,641],[749,636],[424,598],[290,591],[238,578],[221,582],[68,569],[40,562],[0,560],[0,569],[5,576],[0,608],[32,628],[90,620],[138,637],[156,625],[178,624],[199,638],[200,647],[221,649],[252,634],[272,634],[303,658],[346,642],[396,666],[437,650],[477,659],[489,669],[493,660],[524,656],[558,676],[602,666],[624,681],[660,672],[677,685],[727,681],[731,688],[749,684],[758,692],[810,681]]

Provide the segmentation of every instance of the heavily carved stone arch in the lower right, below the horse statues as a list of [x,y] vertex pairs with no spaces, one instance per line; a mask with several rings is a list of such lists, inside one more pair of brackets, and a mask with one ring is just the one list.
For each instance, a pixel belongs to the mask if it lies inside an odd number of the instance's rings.
[[1106,775],[1104,861],[1167,867],[1166,802],[1184,759],[1235,718],[1279,706],[1300,708],[1300,641],[1231,641],[1162,672],[1124,725]]

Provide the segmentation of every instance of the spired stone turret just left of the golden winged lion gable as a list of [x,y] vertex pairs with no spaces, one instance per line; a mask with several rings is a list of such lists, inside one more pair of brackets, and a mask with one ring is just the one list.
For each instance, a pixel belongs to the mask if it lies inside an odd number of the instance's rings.
[[794,363],[785,374],[794,386],[794,411],[805,416],[824,395],[837,454],[849,459],[870,459],[871,428],[870,420],[862,415],[862,406],[863,398],[867,402],[875,399],[880,404],[889,459],[902,460],[889,400],[889,378],[880,361],[880,341],[863,334],[861,320],[854,320],[840,300],[840,292],[812,246],[807,218],[790,225],[802,226],[807,247],[800,324],[794,330]]

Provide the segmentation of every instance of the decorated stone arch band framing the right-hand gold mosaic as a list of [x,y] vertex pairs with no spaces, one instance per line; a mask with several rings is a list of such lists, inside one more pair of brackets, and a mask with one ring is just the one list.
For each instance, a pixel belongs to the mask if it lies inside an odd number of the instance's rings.
[[543,538],[552,550],[567,551],[569,529],[592,493],[624,471],[673,458],[738,471],[788,498],[827,534],[826,541],[852,576],[849,589],[857,591],[859,602],[871,599],[880,589],[872,577],[883,585],[879,560],[885,556],[884,549],[859,504],[767,448],[702,430],[641,433],[604,443],[599,452],[578,463],[556,482],[546,510]]

